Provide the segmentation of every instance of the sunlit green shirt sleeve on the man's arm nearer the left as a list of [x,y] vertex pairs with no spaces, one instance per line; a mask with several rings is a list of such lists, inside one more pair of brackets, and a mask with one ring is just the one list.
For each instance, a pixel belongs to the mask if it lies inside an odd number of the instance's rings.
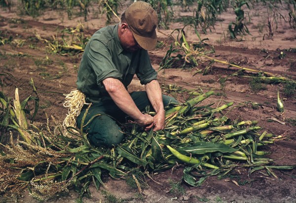
[[122,80],[122,74],[112,62],[110,49],[103,42],[92,40],[90,42],[87,58],[97,76],[98,85],[109,77]]

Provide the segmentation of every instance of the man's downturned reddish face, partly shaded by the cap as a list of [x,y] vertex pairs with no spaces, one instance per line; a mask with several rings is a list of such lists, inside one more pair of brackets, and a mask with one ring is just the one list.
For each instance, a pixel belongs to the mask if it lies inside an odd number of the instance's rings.
[[121,45],[123,49],[134,52],[137,50],[142,49],[142,47],[136,41],[134,35],[132,34],[131,30],[126,25],[126,28],[123,29],[123,33],[120,38]]

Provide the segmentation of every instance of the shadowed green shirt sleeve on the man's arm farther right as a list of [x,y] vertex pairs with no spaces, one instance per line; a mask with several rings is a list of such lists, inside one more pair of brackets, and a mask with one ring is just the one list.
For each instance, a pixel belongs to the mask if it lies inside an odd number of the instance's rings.
[[137,68],[137,77],[139,78],[142,85],[149,83],[152,80],[157,79],[157,72],[151,66],[150,58],[147,50],[141,50],[139,56],[139,65]]

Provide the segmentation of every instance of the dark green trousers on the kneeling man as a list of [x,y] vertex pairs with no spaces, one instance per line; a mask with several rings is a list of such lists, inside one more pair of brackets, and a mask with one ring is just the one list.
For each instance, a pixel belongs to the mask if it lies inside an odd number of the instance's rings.
[[[140,111],[144,111],[148,105],[150,105],[150,109],[153,109],[146,92],[133,92],[130,95]],[[162,95],[162,100],[164,106],[178,103],[177,100],[166,95]],[[83,106],[76,119],[78,128],[81,126],[81,120],[87,107],[88,105]],[[123,140],[124,134],[118,121],[125,122],[127,117],[111,98],[106,97],[101,102],[93,103],[90,106],[83,125],[87,124],[90,119],[91,121],[83,129],[88,133],[87,137],[92,145],[110,147]]]

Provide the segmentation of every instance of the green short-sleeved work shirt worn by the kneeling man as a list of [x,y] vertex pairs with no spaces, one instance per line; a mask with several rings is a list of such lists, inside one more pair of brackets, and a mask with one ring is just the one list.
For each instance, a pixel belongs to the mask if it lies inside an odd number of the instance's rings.
[[142,85],[157,78],[148,51],[124,50],[118,37],[118,24],[107,26],[93,34],[84,49],[78,70],[77,89],[84,93],[86,102],[100,102],[102,98],[110,97],[103,84],[104,79],[116,78],[124,86],[119,88],[127,89],[135,74]]

